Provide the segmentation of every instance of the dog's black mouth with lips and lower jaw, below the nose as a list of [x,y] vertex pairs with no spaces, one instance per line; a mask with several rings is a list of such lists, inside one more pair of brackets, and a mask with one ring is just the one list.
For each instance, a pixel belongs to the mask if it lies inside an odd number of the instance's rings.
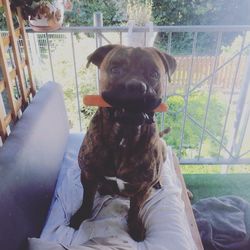
[[155,95],[122,91],[103,91],[103,99],[112,106],[111,118],[120,124],[139,126],[154,123],[154,109],[161,103]]

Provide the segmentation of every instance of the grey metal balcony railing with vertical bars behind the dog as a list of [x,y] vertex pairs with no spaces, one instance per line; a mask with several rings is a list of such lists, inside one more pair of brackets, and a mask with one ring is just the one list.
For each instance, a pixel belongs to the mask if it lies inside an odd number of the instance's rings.
[[[250,164],[250,26],[154,26],[63,28],[54,33],[28,30],[34,76],[62,84],[73,130],[86,127],[93,109],[82,96],[98,91],[98,72],[85,68],[96,47],[143,35],[142,46],[157,33],[154,46],[177,59],[164,97],[169,112],[158,117],[181,164]],[[180,37],[188,46],[178,50]],[[187,39],[186,39],[187,40]],[[209,41],[209,44],[206,42]]]

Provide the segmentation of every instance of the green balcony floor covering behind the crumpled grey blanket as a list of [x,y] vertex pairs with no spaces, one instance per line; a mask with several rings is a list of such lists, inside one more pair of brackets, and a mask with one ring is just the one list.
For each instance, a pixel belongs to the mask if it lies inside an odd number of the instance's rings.
[[236,195],[250,202],[250,174],[184,174],[192,203],[223,195]]

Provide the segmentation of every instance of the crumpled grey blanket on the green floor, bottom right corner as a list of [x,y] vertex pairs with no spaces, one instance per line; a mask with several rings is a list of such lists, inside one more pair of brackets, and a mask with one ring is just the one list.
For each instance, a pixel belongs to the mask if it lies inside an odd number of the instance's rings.
[[209,197],[193,205],[204,249],[250,249],[250,203],[233,196]]

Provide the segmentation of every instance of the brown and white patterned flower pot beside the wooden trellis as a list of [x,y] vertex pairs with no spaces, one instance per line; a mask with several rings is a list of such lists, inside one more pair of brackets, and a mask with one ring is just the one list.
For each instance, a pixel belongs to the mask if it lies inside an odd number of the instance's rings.
[[55,31],[62,26],[63,15],[63,0],[43,3],[38,6],[36,16],[29,19],[29,25],[38,32]]

